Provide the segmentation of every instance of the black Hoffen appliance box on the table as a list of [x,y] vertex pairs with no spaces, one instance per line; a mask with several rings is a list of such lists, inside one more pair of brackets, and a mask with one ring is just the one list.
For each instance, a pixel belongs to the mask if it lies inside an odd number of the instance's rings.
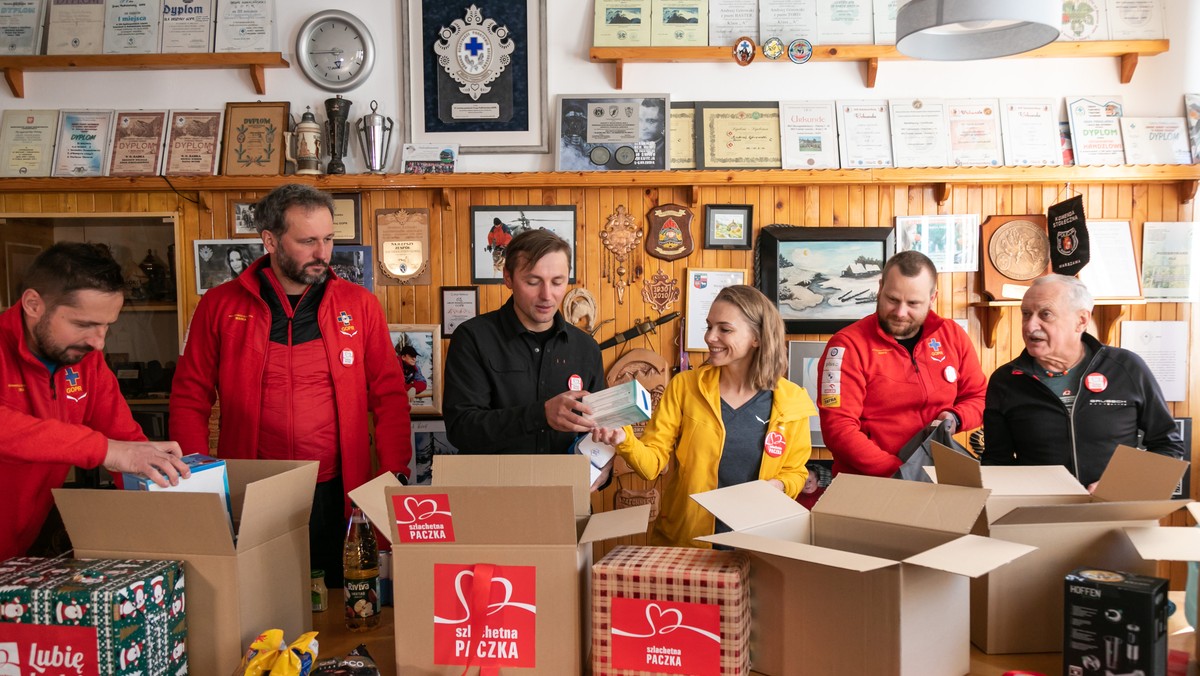
[[1068,675],[1166,674],[1168,580],[1080,568],[1063,581]]

